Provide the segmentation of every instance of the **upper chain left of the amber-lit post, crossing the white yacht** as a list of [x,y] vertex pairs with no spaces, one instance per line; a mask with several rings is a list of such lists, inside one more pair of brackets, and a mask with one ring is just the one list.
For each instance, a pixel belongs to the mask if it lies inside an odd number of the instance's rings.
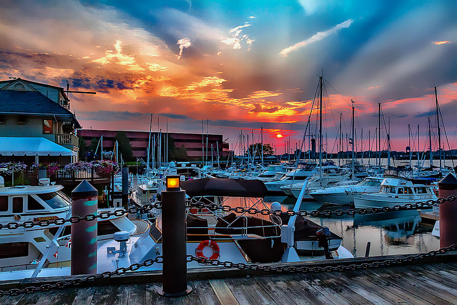
[[148,203],[143,205],[142,207],[137,207],[137,206],[132,206],[128,209],[117,209],[112,212],[110,211],[101,211],[100,214],[93,215],[93,214],[88,214],[84,217],[80,216],[72,216],[69,219],[64,219],[64,218],[56,218],[53,220],[48,220],[48,219],[43,219],[40,221],[25,221],[23,223],[16,223],[16,222],[10,222],[8,224],[0,224],[0,229],[17,229],[17,228],[32,228],[35,226],[40,226],[40,227],[47,227],[49,225],[63,225],[64,223],[79,223],[81,221],[93,221],[96,220],[97,218],[100,219],[108,219],[111,216],[124,216],[125,214],[131,213],[131,214],[137,214],[137,212],[147,212],[152,210],[153,208],[161,208],[162,203],[161,202],[155,202],[155,203]]

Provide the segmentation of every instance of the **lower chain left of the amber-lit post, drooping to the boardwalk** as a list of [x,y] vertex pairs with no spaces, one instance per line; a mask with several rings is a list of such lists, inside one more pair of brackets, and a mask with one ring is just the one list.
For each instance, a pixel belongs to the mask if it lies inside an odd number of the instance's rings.
[[15,295],[18,295],[18,294],[21,294],[21,293],[34,293],[34,292],[37,292],[37,291],[49,291],[51,289],[56,289],[56,288],[65,288],[65,287],[69,287],[69,286],[76,286],[76,285],[80,285],[80,284],[83,284],[83,283],[92,282],[92,281],[95,281],[95,280],[98,280],[98,279],[107,279],[107,278],[110,278],[112,276],[119,276],[122,273],[125,273],[127,271],[136,271],[140,267],[148,267],[148,266],[151,266],[154,263],[161,264],[162,262],[164,262],[163,257],[162,256],[157,256],[155,259],[147,259],[144,262],[142,262],[141,264],[135,263],[135,264],[132,264],[132,265],[130,265],[128,267],[117,268],[114,271],[105,271],[105,272],[99,273],[97,275],[90,275],[90,276],[87,276],[84,279],[77,278],[77,279],[73,279],[73,280],[70,280],[70,281],[60,281],[60,282],[57,282],[55,284],[43,284],[43,285],[38,286],[38,287],[29,286],[29,287],[25,287],[23,289],[10,289],[8,291],[0,290],[0,297],[2,297],[4,295],[15,296]]

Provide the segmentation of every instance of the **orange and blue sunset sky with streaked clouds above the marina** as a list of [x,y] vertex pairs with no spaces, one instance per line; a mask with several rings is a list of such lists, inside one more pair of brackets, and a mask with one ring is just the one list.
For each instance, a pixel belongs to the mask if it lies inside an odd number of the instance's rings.
[[350,133],[351,99],[364,141],[368,130],[374,136],[380,102],[393,149],[404,150],[408,124],[413,136],[419,124],[423,150],[427,116],[436,127],[433,86],[457,148],[452,0],[6,0],[1,6],[0,80],[62,87],[68,80],[71,90],[95,91],[70,94],[84,128],[149,130],[153,112],[154,130],[159,117],[162,131],[168,119],[170,132],[201,132],[202,120],[206,132],[208,119],[209,132],[223,134],[231,148],[240,128],[251,142],[251,129],[257,139],[263,127],[264,141],[281,153],[285,139],[295,148],[303,137],[323,71],[329,151],[339,112],[343,133]]

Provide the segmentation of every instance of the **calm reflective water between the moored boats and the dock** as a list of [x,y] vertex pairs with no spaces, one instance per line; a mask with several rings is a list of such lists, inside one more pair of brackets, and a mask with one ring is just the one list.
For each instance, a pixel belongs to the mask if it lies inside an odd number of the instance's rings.
[[[278,201],[282,210],[293,209],[296,198],[286,196],[265,197],[265,205]],[[251,206],[252,199],[229,198],[224,204],[231,206]],[[262,203],[257,204],[263,208]],[[342,209],[350,206],[322,206],[318,202],[304,201],[301,210]],[[440,240],[431,234],[433,225],[421,223],[418,211],[388,212],[377,215],[340,216],[334,218],[314,218],[309,220],[329,227],[343,237],[342,245],[355,257],[365,256],[367,242],[371,242],[370,256],[413,254],[440,248]]]

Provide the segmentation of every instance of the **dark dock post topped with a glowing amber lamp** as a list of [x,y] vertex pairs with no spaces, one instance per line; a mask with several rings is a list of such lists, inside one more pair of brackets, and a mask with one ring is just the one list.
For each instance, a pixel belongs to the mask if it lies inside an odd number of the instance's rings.
[[178,175],[168,175],[162,191],[162,296],[179,297],[192,290],[187,286],[186,191],[181,190]]

